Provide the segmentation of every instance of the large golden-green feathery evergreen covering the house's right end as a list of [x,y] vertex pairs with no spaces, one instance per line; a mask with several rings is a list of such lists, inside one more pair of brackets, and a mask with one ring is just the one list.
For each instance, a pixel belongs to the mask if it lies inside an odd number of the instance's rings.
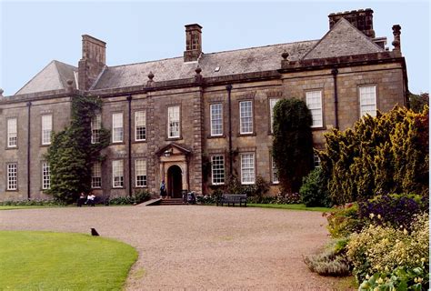
[[333,202],[390,193],[428,192],[428,108],[366,115],[353,129],[326,134],[319,152]]

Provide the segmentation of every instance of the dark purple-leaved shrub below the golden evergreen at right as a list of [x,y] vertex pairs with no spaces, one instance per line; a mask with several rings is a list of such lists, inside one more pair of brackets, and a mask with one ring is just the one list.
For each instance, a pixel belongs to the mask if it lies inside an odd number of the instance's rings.
[[367,223],[407,229],[413,218],[424,211],[428,211],[428,199],[417,195],[383,195],[359,203],[359,217]]

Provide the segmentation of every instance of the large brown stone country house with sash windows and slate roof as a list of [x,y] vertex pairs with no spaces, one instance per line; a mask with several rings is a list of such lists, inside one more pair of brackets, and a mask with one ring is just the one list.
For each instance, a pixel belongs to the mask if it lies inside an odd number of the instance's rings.
[[93,167],[98,195],[158,194],[162,179],[169,196],[205,194],[233,174],[244,185],[263,176],[275,193],[277,100],[306,101],[316,148],[331,128],[407,104],[401,27],[392,27],[389,49],[375,35],[373,10],[328,17],[318,40],[218,53],[203,52],[202,26],[185,25],[184,55],[131,65],[105,65],[105,42],[83,35],[77,66],[52,61],[15,95],[0,93],[0,200],[49,197],[44,155],[51,132],[68,125],[74,95],[103,99],[93,137],[102,125],[112,134],[105,161]]

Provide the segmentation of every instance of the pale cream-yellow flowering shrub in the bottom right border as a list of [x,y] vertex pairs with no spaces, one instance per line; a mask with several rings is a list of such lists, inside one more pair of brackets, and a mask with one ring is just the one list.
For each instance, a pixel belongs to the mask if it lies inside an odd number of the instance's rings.
[[409,233],[406,228],[370,225],[359,234],[350,236],[347,256],[354,266],[359,282],[366,275],[389,272],[397,266],[429,266],[429,216],[413,220]]

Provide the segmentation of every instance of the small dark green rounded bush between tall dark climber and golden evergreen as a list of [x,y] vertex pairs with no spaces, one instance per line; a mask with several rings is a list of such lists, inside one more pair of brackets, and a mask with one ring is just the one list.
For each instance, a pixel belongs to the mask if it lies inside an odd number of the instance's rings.
[[304,178],[303,184],[299,189],[302,203],[307,207],[330,206],[326,184],[327,181],[322,168],[316,167]]

